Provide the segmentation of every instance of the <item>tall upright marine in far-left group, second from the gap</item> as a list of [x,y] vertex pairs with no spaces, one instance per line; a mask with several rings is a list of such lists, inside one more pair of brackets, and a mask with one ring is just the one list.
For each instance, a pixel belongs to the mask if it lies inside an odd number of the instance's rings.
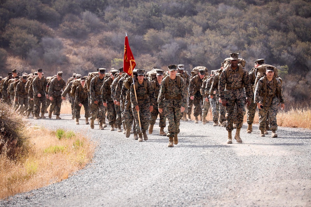
[[32,81],[32,92],[33,92],[33,97],[34,97],[34,114],[35,118],[34,119],[39,119],[39,110],[41,107],[41,118],[45,118],[44,116],[44,107],[46,104],[46,98],[47,95],[45,94],[45,88],[46,84],[48,81],[46,78],[42,75],[42,68],[37,69],[38,76],[35,77]]

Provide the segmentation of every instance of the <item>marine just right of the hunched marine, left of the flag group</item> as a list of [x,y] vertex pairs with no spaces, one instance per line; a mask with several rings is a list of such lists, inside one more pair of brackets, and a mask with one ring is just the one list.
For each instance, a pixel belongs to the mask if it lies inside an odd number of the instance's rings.
[[94,129],[94,120],[96,117],[99,120],[99,129],[103,130],[104,119],[106,118],[106,107],[103,105],[103,98],[101,95],[101,87],[104,84],[105,68],[100,68],[98,76],[91,79],[90,82],[90,101],[91,101],[91,128]]

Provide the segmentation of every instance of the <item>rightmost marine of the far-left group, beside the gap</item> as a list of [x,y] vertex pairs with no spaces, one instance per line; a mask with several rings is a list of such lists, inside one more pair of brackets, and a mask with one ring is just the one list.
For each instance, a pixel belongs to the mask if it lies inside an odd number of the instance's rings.
[[[52,118],[52,112],[55,110],[56,119],[61,119],[59,117],[60,115],[60,109],[62,106],[62,100],[65,100],[65,97],[62,97],[62,91],[66,87],[66,82],[62,78],[63,72],[58,71],[57,77],[52,79],[49,85],[49,99],[51,100],[51,106],[49,110],[49,118]],[[44,107],[43,107],[44,110]]]

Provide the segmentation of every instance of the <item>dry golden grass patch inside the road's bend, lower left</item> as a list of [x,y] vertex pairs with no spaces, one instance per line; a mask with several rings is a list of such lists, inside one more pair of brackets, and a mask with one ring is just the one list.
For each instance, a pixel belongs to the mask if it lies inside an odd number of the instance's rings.
[[27,130],[30,138],[24,155],[16,160],[0,155],[0,199],[67,179],[93,157],[95,146],[83,134],[37,127]]

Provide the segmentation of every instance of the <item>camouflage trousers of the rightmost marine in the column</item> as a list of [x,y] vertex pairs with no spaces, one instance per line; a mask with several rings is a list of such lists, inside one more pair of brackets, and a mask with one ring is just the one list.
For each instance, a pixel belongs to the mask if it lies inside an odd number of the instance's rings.
[[[267,105],[267,104],[266,104]],[[273,98],[270,106],[264,106],[263,109],[259,109],[259,130],[266,129],[266,124],[269,123],[270,119],[270,129],[277,130],[276,113],[278,110],[277,98]],[[267,117],[269,113],[269,118]]]

